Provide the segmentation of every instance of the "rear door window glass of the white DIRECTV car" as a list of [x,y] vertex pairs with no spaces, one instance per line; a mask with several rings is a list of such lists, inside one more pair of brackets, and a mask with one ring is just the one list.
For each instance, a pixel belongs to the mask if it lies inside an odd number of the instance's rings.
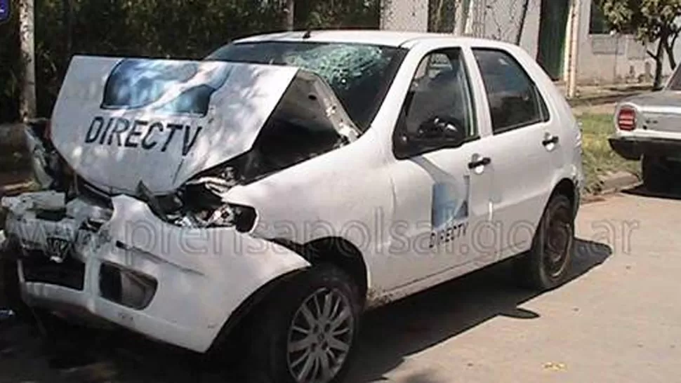
[[546,102],[527,72],[508,53],[473,49],[484,81],[494,134],[548,121]]

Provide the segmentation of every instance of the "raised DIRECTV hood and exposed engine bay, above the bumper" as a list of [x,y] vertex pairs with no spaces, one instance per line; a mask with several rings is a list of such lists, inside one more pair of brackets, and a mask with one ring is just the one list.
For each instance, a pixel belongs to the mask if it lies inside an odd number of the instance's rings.
[[[147,203],[162,220],[180,227],[234,227],[244,232],[253,227],[256,212],[252,207],[230,204],[225,200],[227,191],[359,137],[359,129],[333,90],[311,72],[289,67],[263,70],[263,65],[226,62],[194,64],[199,67],[192,67],[194,77],[204,75],[201,81],[213,87],[208,87],[206,99],[206,88],[201,88],[205,84],[185,79],[178,86],[173,83],[177,79],[167,78],[168,73],[180,76],[186,65],[187,62],[165,60],[74,58],[53,120],[34,121],[25,130],[41,189],[60,192],[65,201],[84,199],[103,208],[111,208],[112,196],[126,194]],[[81,90],[81,83],[101,81],[99,67],[110,68],[109,78],[95,88],[99,91]],[[160,100],[169,96],[159,93],[154,98],[149,93],[155,90],[149,90],[148,84],[136,85],[140,80],[135,76],[140,74],[133,69],[140,68],[152,72],[152,78],[166,76],[152,84],[154,89],[179,94],[181,102],[163,104]],[[252,73],[258,70],[257,76]],[[244,84],[240,79],[245,74],[253,77],[251,83]],[[237,77],[230,89],[230,78]],[[274,86],[272,79],[288,82],[279,81]],[[250,87],[250,99],[243,95],[246,85]],[[197,88],[203,94],[194,92]],[[235,96],[239,96],[237,101]],[[237,107],[255,110],[250,116],[222,110]],[[110,115],[105,116],[104,110]],[[94,116],[83,119],[91,121],[89,126],[77,122],[79,113]],[[183,116],[183,120],[152,122],[173,116]],[[173,147],[177,141],[173,141],[174,137],[181,134],[175,134],[176,129],[181,132],[190,126],[197,128],[192,130],[193,135],[185,131],[183,145]],[[138,127],[147,130],[135,130]],[[164,145],[157,150],[161,142]]]

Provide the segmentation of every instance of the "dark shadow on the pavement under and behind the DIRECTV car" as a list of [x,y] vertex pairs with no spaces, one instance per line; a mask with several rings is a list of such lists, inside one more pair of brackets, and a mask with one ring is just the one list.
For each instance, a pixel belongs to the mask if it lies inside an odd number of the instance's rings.
[[[602,243],[578,241],[567,283],[604,262],[611,253],[611,248]],[[496,316],[528,320],[541,316],[519,307],[539,294],[516,288],[512,276],[508,262],[496,264],[370,312],[364,322],[356,368],[348,382],[385,380],[383,375],[407,356]],[[440,383],[427,376],[418,382]]]

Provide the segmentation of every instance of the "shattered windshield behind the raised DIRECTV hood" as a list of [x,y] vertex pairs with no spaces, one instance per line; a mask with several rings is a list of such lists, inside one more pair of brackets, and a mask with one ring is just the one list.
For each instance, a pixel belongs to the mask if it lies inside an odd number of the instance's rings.
[[291,65],[322,77],[362,131],[381,106],[404,49],[358,43],[263,41],[223,46],[206,60]]

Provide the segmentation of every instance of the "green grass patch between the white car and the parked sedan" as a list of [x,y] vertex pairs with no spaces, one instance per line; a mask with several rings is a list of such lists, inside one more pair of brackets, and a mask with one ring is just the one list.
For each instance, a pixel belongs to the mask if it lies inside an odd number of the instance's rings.
[[625,170],[640,177],[640,163],[627,161],[610,149],[608,137],[614,130],[612,114],[583,114],[582,123],[583,166],[586,176],[585,191],[600,191],[599,175]]

